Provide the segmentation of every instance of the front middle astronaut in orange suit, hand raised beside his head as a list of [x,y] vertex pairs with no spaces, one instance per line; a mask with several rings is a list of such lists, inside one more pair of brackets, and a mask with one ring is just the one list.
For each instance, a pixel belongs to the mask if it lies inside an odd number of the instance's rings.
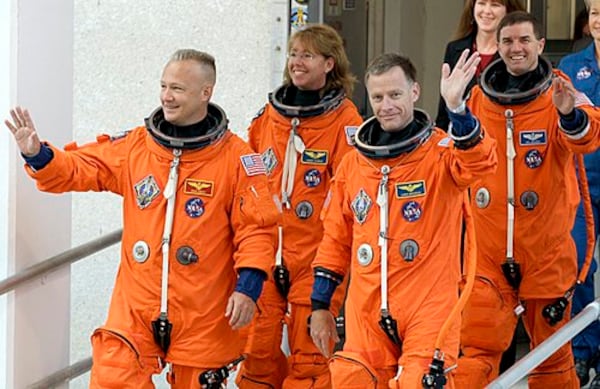
[[[452,73],[443,68],[448,107],[459,107],[480,61],[468,54]],[[458,358],[460,314],[452,319],[451,311],[459,298],[463,204],[467,186],[495,170],[495,142],[464,109],[450,113],[448,134],[435,128],[414,108],[415,80],[414,66],[398,54],[369,64],[375,116],[358,129],[323,211],[311,336],[326,356],[335,339],[331,296],[350,278],[346,342],[330,362],[334,388],[454,387],[446,371]]]

